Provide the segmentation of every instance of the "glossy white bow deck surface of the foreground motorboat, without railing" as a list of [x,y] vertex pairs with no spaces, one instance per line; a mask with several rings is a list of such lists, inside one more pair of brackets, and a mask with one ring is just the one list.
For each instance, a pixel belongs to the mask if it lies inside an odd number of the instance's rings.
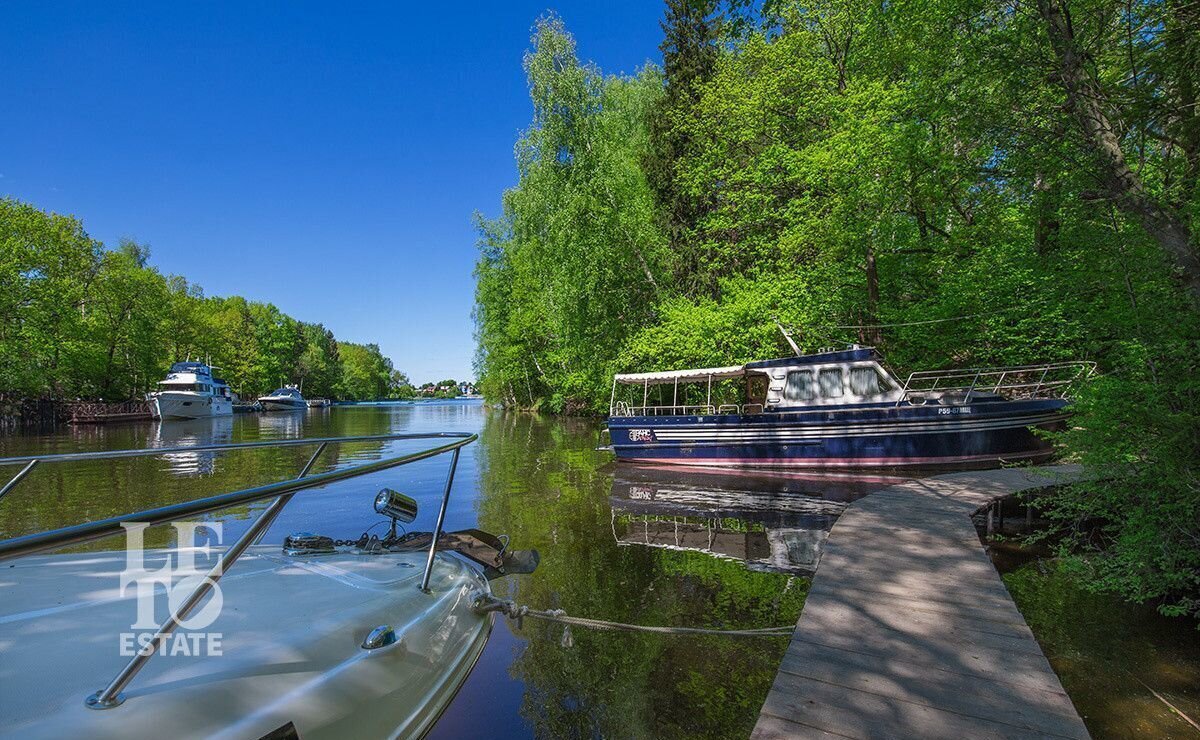
[[[145,567],[161,568],[167,553],[146,551]],[[126,553],[16,560],[0,584],[0,738],[421,736],[493,624],[470,608],[473,592],[490,592],[476,568],[439,554],[425,592],[425,556],[287,556],[277,546],[253,547],[220,580],[215,621],[176,633],[190,643],[220,634],[220,654],[176,652],[173,639],[126,687],[125,702],[104,711],[84,699],[128,661],[121,634],[154,631],[131,626],[138,588],[120,588]],[[167,596],[157,591],[162,619]],[[398,640],[364,649],[379,625]],[[280,733],[289,723],[295,734]]]

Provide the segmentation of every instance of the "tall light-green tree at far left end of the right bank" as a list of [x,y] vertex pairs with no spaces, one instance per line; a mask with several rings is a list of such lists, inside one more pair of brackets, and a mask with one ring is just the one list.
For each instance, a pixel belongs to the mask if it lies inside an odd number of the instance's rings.
[[478,374],[512,402],[581,409],[670,276],[640,164],[661,82],[652,70],[604,78],[554,17],[538,23],[524,68],[534,116],[518,182],[500,218],[480,223]]

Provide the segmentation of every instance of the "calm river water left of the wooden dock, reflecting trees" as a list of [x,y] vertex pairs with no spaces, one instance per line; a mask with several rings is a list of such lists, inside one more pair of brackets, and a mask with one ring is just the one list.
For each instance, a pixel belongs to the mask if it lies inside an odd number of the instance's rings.
[[[534,608],[646,625],[794,624],[824,534],[854,498],[887,482],[680,474],[616,465],[600,425],[491,411],[474,401],[335,407],[205,421],[58,427],[0,437],[0,457],[179,447],[299,437],[478,432],[463,450],[446,529],[479,527],[536,548],[533,574],[493,582]],[[430,446],[330,447],[314,471]],[[310,449],[175,452],[44,464],[0,505],[0,537],[293,477]],[[296,497],[266,534],[355,539],[379,518],[384,486],[415,498],[413,529],[431,529],[448,456]],[[11,475],[13,468],[6,471]],[[214,515],[232,542],[265,504]],[[168,545],[172,528],[156,528]],[[379,531],[378,529],[376,531]],[[120,539],[86,547],[124,547]],[[251,607],[247,607],[251,608]],[[565,645],[564,645],[565,643]],[[499,620],[433,738],[744,738],[786,638],[593,632]]]

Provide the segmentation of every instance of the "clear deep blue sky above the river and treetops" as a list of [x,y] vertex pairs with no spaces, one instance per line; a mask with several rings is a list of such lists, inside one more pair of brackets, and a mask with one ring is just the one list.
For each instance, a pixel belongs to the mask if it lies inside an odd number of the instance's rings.
[[653,0],[6,2],[0,194],[413,380],[473,377],[472,212],[515,182],[547,10],[606,73],[660,59]]

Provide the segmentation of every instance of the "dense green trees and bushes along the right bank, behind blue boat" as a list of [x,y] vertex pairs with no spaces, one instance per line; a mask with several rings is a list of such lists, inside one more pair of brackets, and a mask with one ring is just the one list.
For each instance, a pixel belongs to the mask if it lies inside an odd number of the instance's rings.
[[901,372],[1092,360],[1042,503],[1064,573],[1200,618],[1200,11],[667,0],[662,67],[562,19],[478,216],[490,403],[850,342]]

